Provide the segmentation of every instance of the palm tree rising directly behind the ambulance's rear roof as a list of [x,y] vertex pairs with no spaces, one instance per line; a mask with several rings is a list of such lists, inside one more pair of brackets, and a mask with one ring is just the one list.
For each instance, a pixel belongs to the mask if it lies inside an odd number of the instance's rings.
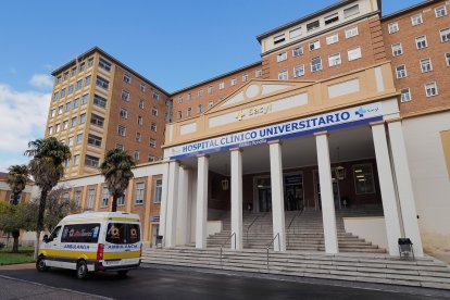
[[99,168],[113,197],[112,212],[117,211],[117,199],[124,196],[129,179],[134,177],[132,168],[135,165],[133,158],[123,149],[109,150],[104,155]]

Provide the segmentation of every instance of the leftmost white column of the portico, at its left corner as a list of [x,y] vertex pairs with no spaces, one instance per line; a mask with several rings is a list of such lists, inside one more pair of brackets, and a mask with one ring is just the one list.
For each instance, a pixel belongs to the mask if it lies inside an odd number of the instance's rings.
[[179,163],[171,161],[168,163],[168,190],[167,190],[167,212],[165,221],[165,247],[175,247],[176,245],[176,222],[178,209],[178,176]]

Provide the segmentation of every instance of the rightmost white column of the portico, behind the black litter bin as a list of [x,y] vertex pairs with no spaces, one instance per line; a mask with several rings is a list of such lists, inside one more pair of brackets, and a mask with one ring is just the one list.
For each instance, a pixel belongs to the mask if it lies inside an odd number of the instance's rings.
[[401,122],[399,120],[389,122],[388,129],[404,234],[413,242],[414,254],[423,257],[424,251]]

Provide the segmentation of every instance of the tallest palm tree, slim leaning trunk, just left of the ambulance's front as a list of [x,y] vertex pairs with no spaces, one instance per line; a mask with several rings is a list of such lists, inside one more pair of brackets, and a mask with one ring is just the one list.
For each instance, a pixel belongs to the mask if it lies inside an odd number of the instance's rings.
[[71,150],[54,137],[30,141],[28,148],[25,155],[33,157],[28,164],[29,174],[33,175],[36,185],[40,188],[35,247],[35,258],[37,258],[40,232],[43,229],[47,195],[63,177],[63,163],[71,159]]

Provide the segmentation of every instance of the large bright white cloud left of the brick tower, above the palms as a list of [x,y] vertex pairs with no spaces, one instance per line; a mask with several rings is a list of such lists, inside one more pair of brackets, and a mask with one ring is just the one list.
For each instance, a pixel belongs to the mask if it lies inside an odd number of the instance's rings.
[[2,153],[22,157],[28,141],[43,137],[50,99],[50,93],[16,91],[0,83],[0,160]]

